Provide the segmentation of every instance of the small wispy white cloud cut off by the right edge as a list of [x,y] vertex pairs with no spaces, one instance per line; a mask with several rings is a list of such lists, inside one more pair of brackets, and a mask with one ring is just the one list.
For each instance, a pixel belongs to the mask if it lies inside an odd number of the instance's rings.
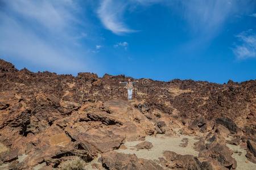
[[252,29],[241,32],[236,36],[240,41],[240,45],[233,48],[234,54],[238,59],[255,58],[256,57],[256,34]]

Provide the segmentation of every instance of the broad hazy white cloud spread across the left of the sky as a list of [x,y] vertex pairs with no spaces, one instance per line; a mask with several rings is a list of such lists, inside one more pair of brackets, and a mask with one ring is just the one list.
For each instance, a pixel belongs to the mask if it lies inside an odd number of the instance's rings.
[[[85,32],[76,29],[72,1],[5,1],[0,8],[0,56],[60,73],[86,70],[77,48]],[[77,38],[79,37],[79,38]]]

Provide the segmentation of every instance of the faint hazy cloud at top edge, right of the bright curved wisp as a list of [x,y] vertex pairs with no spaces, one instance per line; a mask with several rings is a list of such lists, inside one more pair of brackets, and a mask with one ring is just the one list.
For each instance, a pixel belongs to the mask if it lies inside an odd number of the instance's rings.
[[236,1],[181,1],[176,10],[180,11],[192,32],[210,37],[216,35],[236,8]]

